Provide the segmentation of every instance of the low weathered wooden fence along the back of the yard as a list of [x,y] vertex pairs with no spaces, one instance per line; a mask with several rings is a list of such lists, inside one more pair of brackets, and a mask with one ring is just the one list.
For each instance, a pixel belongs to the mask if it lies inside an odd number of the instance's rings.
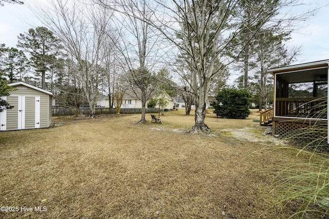
[[[78,113],[77,113],[78,111]],[[147,108],[146,113],[158,113],[158,108]],[[95,111],[95,114],[115,114],[116,109],[110,109],[110,108],[98,108]],[[138,114],[142,113],[141,108],[121,108],[120,114]],[[75,108],[75,107],[68,107],[68,106],[52,106],[52,115],[76,115],[76,114],[82,114],[82,115],[88,115],[89,114],[89,108]]]

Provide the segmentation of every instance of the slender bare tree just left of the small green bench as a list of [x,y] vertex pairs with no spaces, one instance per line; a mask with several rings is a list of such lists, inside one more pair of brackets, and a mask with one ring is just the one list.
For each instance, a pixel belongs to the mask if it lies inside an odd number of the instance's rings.
[[[141,98],[142,113],[138,123],[144,123],[146,104],[155,95],[159,80],[155,79],[156,57],[159,50],[159,34],[146,22],[153,16],[148,10],[146,0],[123,0],[119,2],[96,1],[104,8],[120,12],[115,17],[120,40],[114,44],[120,51],[121,66],[126,67],[126,78],[130,82],[130,90]],[[141,19],[143,18],[143,19]]]

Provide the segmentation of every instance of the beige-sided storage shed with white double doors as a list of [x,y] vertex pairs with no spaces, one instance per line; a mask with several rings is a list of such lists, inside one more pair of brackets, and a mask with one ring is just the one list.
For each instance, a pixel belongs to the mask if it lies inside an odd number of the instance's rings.
[[0,131],[48,128],[53,94],[23,82],[8,85],[15,90],[2,98],[14,108],[0,113]]

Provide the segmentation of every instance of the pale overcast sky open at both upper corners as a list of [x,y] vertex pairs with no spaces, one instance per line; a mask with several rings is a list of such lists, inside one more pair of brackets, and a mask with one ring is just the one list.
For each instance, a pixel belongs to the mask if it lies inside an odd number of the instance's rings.
[[[319,2],[323,4],[325,1]],[[25,5],[4,4],[4,7],[0,7],[0,43],[16,47],[17,35],[42,25],[33,19],[33,14]],[[329,59],[328,21],[329,7],[321,8],[315,17],[304,24],[307,26],[300,29],[300,33],[293,33],[289,44],[302,45],[302,54],[294,64]]]

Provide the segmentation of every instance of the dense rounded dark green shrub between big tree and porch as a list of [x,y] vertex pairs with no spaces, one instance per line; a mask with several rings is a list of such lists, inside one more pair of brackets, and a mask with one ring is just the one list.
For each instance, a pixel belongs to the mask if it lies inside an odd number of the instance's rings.
[[[216,96],[216,101],[211,104],[215,109],[214,113],[223,118],[244,119],[250,114],[249,104],[251,94],[247,90],[224,88]],[[223,105],[220,106],[220,103]]]

